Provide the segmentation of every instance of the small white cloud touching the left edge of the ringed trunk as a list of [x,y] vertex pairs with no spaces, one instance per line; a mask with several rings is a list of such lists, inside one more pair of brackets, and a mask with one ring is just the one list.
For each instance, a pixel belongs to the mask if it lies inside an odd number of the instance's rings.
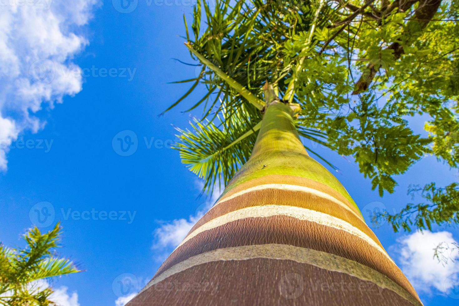
[[[202,187],[202,181],[196,181],[196,189],[201,191]],[[180,244],[193,225],[195,225],[195,223],[213,206],[221,194],[218,186],[214,187],[214,190],[210,199],[208,201],[203,201],[202,204],[196,208],[195,213],[188,218],[174,219],[171,221],[157,221],[160,227],[153,232],[154,240],[152,248],[161,250],[159,254],[156,254],[158,261],[163,261],[170,252]]]

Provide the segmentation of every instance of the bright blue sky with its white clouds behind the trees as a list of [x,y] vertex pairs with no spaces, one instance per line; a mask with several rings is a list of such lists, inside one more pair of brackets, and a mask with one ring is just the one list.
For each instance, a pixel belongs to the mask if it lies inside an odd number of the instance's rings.
[[[192,3],[37,0],[2,8],[8,30],[0,42],[8,46],[0,47],[0,240],[23,245],[20,234],[32,224],[49,230],[61,221],[59,254],[85,270],[53,282],[62,306],[123,305],[212,201],[197,198],[199,180],[170,149],[172,124],[187,126],[190,115],[181,111],[199,93],[157,116],[187,90],[168,82],[195,76],[194,67],[173,60],[190,61],[179,35]],[[422,131],[423,120],[413,124]],[[351,158],[318,151],[340,168],[337,178],[368,223],[371,211],[397,211],[409,201],[409,184],[457,179],[427,156],[399,177],[394,194],[380,198]],[[443,267],[430,253],[436,243],[458,241],[457,228],[373,230],[425,305],[457,305],[458,288],[444,284],[459,263]]]

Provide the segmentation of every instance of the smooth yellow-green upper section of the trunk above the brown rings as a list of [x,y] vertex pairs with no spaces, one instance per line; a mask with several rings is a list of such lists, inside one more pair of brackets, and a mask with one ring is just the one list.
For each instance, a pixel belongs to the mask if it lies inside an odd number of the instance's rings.
[[231,179],[225,192],[253,178],[293,175],[328,185],[357,207],[333,174],[308,156],[293,123],[296,105],[274,100],[267,106],[252,155]]

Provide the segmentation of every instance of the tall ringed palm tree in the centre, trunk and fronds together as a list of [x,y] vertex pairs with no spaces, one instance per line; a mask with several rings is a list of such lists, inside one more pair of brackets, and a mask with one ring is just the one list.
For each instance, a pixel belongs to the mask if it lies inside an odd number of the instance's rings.
[[[327,50],[332,39],[319,45],[318,37],[337,10],[322,0],[223,1],[213,14],[203,7],[208,28],[200,33],[198,2],[195,41],[187,32],[186,43],[203,66],[170,108],[200,82],[208,92],[190,110],[216,94],[191,131],[179,129],[176,148],[206,190],[225,188],[128,305],[422,305],[352,197],[300,139],[328,145],[308,116],[308,103],[327,94],[304,70]],[[299,49],[288,45],[295,35]],[[298,49],[294,58],[289,48]],[[248,73],[257,63],[269,73]]]

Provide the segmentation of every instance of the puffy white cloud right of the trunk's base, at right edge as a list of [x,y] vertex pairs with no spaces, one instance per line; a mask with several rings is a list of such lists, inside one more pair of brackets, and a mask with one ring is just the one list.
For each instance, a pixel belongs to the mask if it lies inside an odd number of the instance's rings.
[[443,255],[450,260],[439,262],[434,258],[434,249],[442,242],[449,245],[457,243],[453,234],[446,231],[418,231],[398,239],[397,242],[395,248],[398,249],[401,269],[414,288],[420,292],[431,293],[432,289],[436,289],[448,294],[453,287],[453,282],[448,279],[456,278],[457,275],[453,274],[459,272],[459,250],[447,250]]

